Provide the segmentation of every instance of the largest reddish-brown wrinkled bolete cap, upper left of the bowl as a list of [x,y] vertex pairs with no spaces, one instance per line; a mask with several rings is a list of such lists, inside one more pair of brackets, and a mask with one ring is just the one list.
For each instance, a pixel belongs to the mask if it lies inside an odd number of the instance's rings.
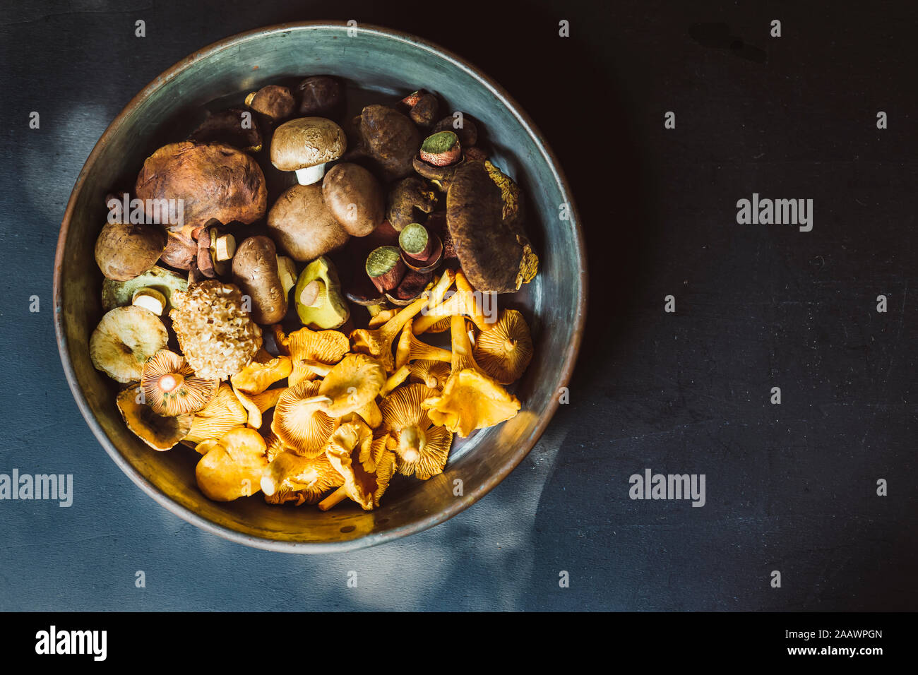
[[162,219],[163,203],[181,203],[181,231],[192,237],[210,219],[243,225],[262,219],[268,201],[261,167],[226,143],[164,145],[143,163],[135,192],[145,208],[156,209],[148,216],[159,212]]

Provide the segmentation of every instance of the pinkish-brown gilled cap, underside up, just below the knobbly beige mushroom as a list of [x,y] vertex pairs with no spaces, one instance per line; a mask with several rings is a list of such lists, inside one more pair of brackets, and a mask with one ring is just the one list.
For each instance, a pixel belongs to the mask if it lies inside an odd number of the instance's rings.
[[219,380],[196,377],[185,357],[168,349],[153,354],[143,365],[140,376],[147,404],[164,417],[204,409],[218,386]]

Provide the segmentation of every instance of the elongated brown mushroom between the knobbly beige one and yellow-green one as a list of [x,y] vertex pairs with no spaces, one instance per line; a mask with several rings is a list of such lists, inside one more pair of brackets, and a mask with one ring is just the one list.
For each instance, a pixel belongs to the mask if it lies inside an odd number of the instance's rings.
[[252,321],[281,321],[287,310],[286,293],[277,270],[277,249],[270,237],[243,241],[232,258],[233,283],[252,298]]

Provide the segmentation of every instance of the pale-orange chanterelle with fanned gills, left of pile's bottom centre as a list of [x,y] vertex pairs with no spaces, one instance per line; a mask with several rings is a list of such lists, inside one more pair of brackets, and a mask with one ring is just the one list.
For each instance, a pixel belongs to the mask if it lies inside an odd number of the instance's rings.
[[281,443],[304,457],[321,455],[335,429],[335,420],[321,410],[331,399],[319,396],[319,384],[307,380],[288,387],[274,406],[271,431]]

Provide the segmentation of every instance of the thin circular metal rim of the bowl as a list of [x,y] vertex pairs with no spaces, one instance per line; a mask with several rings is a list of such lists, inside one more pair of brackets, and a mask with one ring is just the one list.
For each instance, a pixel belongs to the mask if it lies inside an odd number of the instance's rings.
[[[93,411],[90,410],[89,403],[84,396],[83,389],[80,388],[80,385],[77,381],[76,373],[70,360],[67,349],[67,337],[63,325],[62,310],[62,268],[64,243],[67,241],[67,236],[70,231],[71,219],[73,219],[73,211],[76,206],[77,198],[83,189],[86,175],[93,168],[98,155],[100,152],[102,152],[102,149],[105,148],[109,139],[118,131],[124,119],[129,116],[134,108],[140,106],[140,103],[144,101],[148,96],[150,96],[153,91],[158,89],[163,84],[169,82],[178,73],[182,73],[186,68],[190,67],[194,63],[207,59],[218,51],[231,49],[233,46],[249,39],[257,39],[263,35],[271,33],[321,28],[341,29],[353,27],[349,27],[345,21],[323,20],[297,21],[275,24],[273,26],[267,26],[263,28],[254,28],[252,30],[231,35],[224,39],[219,39],[218,41],[207,45],[207,47],[193,51],[181,61],[174,63],[174,65],[160,73],[149,84],[144,86],[140,92],[131,98],[128,105],[125,106],[121,112],[118,113],[118,116],[108,125],[105,132],[102,134],[99,140],[96,141],[92,152],[89,153],[83,168],[80,170],[80,174],[77,176],[76,182],[73,186],[73,191],[71,193],[70,199],[67,202],[67,208],[64,211],[64,216],[61,223],[61,232],[58,235],[57,251],[54,256],[54,332],[57,339],[58,352],[61,356],[64,375],[66,376],[67,383],[70,386],[71,392],[73,393],[73,399],[76,400],[77,407],[80,409],[80,412],[83,413],[84,420],[89,425],[89,428],[92,430],[92,432],[95,434],[96,440],[98,440],[99,444],[105,448],[108,456],[110,456],[115,461],[118,467],[138,487],[140,487],[140,489],[146,492],[154,501],[159,503],[167,511],[174,513],[178,517],[185,520],[185,522],[196,525],[196,527],[199,527],[210,534],[217,534],[218,536],[229,539],[229,541],[235,542],[237,544],[280,553],[341,553],[345,551],[352,551],[367,546],[375,546],[377,544],[394,541],[409,534],[422,532],[433,527],[434,525],[449,520],[456,513],[465,511],[465,509],[467,509],[469,506],[484,497],[491,489],[494,489],[501,480],[506,478],[509,473],[520,464],[522,458],[529,454],[529,452],[532,450],[532,447],[542,437],[545,428],[554,417],[554,413],[557,411],[559,405],[559,397],[552,397],[548,407],[540,416],[538,422],[536,422],[534,431],[529,434],[526,441],[524,441],[513,452],[513,454],[509,456],[508,460],[502,464],[495,473],[489,476],[482,485],[477,487],[475,490],[465,494],[462,498],[454,500],[446,509],[442,510],[441,512],[436,512],[424,516],[418,521],[400,528],[387,530],[386,532],[364,534],[363,536],[354,539],[338,542],[278,541],[275,539],[263,538],[253,534],[237,532],[236,530],[230,529],[229,527],[207,520],[207,518],[204,518],[203,516],[198,515],[196,512],[193,512],[178,504],[176,501],[173,501],[168,495],[163,493],[150,481],[141,476],[140,473],[130,465],[129,461],[121,455],[121,453],[118,451],[118,448],[115,446],[115,444],[112,443],[112,441],[103,431],[101,424],[95,419],[95,415],[93,414]],[[532,140],[534,141],[537,149],[542,153],[543,158],[547,160],[547,163],[549,164],[549,167],[554,174],[554,179],[557,182],[557,185],[561,188],[562,195],[565,196],[566,203],[569,206],[568,212],[570,214],[571,222],[574,226],[573,230],[575,234],[575,244],[577,247],[577,257],[579,258],[580,264],[579,293],[577,294],[577,314],[575,319],[574,333],[571,342],[568,343],[565,350],[561,378],[557,383],[557,387],[559,388],[566,387],[570,381],[571,376],[573,375],[574,366],[577,361],[577,353],[580,349],[580,343],[583,338],[584,326],[587,319],[588,271],[585,242],[583,231],[580,227],[580,219],[577,212],[577,206],[574,203],[573,194],[567,185],[565,175],[562,172],[559,163],[557,162],[557,158],[555,157],[554,152],[552,152],[547,143],[543,141],[542,133],[539,131],[539,129],[536,128],[535,124],[532,122],[532,119],[529,118],[529,116],[522,110],[519,104],[517,104],[517,102],[511,96],[509,96],[507,91],[502,86],[491,80],[486,74],[479,71],[476,66],[465,61],[465,59],[457,56],[452,51],[443,49],[439,45],[436,45],[429,40],[420,39],[415,35],[396,29],[383,28],[374,26],[372,24],[359,24],[356,28],[361,32],[375,33],[385,37],[386,39],[396,39],[397,41],[406,42],[409,45],[422,51],[431,52],[431,54],[434,56],[450,62],[453,66],[458,67],[471,76],[475,77],[476,80],[484,84],[486,88],[491,91],[491,93],[498,99],[501,104],[509,109],[513,117],[517,118],[523,129],[525,129],[532,137]]]

